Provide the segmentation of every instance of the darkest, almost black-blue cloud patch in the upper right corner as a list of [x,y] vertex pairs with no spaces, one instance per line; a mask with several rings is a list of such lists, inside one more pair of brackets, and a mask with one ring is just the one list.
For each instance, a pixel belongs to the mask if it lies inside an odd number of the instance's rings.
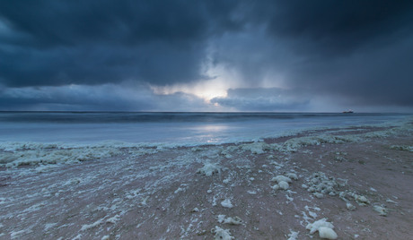
[[344,55],[411,34],[412,9],[411,1],[277,1],[265,21],[296,51]]

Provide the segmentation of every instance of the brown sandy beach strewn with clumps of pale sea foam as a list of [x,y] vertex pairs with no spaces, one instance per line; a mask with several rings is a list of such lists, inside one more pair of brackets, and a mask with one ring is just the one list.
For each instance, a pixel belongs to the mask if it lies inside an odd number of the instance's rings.
[[[326,219],[338,239],[408,239],[412,129],[119,148],[77,164],[1,167],[0,238],[319,239],[306,227]],[[288,189],[277,189],[277,176],[290,176]]]

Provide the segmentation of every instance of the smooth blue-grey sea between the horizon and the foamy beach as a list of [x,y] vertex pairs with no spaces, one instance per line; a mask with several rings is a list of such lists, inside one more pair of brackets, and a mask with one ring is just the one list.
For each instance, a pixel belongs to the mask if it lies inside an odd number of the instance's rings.
[[204,144],[254,141],[320,127],[385,124],[403,114],[0,112],[0,142]]

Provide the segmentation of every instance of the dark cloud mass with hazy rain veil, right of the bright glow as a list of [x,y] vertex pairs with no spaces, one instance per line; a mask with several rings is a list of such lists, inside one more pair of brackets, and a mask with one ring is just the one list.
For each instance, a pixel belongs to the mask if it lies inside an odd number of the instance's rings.
[[264,35],[217,54],[249,86],[278,73],[288,89],[349,106],[413,106],[412,1],[259,1],[250,9]]

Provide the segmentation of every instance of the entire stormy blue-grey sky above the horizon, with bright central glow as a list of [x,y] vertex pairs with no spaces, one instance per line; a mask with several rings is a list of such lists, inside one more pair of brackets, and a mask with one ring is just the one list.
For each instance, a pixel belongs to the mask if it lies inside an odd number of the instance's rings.
[[0,1],[0,110],[413,112],[413,1]]

